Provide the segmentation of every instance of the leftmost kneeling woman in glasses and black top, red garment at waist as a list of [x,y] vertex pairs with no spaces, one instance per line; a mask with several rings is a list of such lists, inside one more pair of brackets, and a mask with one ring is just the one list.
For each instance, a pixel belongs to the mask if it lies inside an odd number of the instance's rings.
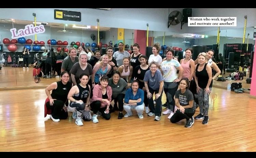
[[[53,82],[45,89],[47,98],[44,105],[44,117],[50,114],[50,118],[54,122],[65,120],[68,117],[67,96],[72,87],[69,78],[70,74],[64,71],[60,74],[60,81]],[[50,91],[52,91],[52,94]]]

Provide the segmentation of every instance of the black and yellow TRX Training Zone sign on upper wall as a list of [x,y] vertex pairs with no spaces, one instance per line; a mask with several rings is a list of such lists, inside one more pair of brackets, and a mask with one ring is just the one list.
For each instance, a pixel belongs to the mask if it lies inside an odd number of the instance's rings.
[[54,19],[56,20],[66,20],[66,21],[80,21],[81,22],[81,12],[64,11],[64,10],[54,10]]

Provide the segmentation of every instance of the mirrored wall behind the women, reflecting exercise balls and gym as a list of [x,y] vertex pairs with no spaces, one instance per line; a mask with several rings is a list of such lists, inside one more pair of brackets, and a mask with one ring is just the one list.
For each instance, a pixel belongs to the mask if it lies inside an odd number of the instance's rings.
[[[38,19],[39,21],[39,19]],[[44,49],[47,49],[47,53],[51,51],[53,48],[53,52],[59,52],[60,49],[64,49],[65,52],[73,45],[82,45],[89,43],[92,47],[92,44],[98,43],[98,28],[96,26],[86,26],[86,25],[71,25],[66,24],[65,21],[61,21],[63,23],[50,23],[44,22],[45,32],[37,34],[37,39],[35,39],[35,35],[25,36],[24,40],[21,40],[15,43],[15,40],[12,41],[10,29],[16,28],[24,29],[26,25],[32,24],[33,21],[24,21],[24,20],[12,20],[12,19],[0,19],[0,43],[2,50],[0,51],[0,55],[3,54],[6,62],[1,62],[2,69],[0,70],[0,79],[1,84],[0,88],[4,87],[19,87],[19,86],[42,86],[49,85],[50,83],[59,80],[56,78],[57,72],[52,72],[48,76],[50,78],[40,77],[40,82],[35,83],[35,77],[33,77],[33,64],[42,60],[42,53]],[[40,24],[37,24],[40,25]],[[89,28],[89,29],[88,29]],[[225,54],[225,46],[224,44],[242,44],[243,41],[243,28],[239,29],[229,29],[229,30],[220,30],[220,44],[219,44],[219,53],[225,55],[226,64],[228,66],[228,53]],[[120,40],[117,38],[118,28],[106,28],[100,27],[100,42],[104,45],[117,44]],[[134,30],[124,29],[124,43],[126,46],[126,51],[132,51],[131,45],[134,44]],[[248,44],[254,45],[255,41],[253,40],[254,28],[248,27],[246,28],[246,39],[245,44],[247,44],[247,34],[248,36]],[[95,36],[95,37],[93,37]],[[162,32],[162,31],[149,31],[149,37],[153,37],[153,41],[149,41],[149,46],[153,43],[160,43],[160,45],[166,45],[167,47],[178,47],[182,50],[186,48],[192,48],[193,45],[207,45],[211,46],[217,43],[217,31],[208,31],[208,32],[198,32],[198,33],[176,33],[176,32]],[[7,44],[4,44],[4,39],[8,38]],[[31,41],[29,40],[31,39]],[[35,41],[38,41],[39,44],[34,44]],[[50,41],[49,41],[50,40]],[[12,41],[12,42],[11,42]],[[40,42],[44,44],[40,44]],[[66,42],[64,42],[66,41]],[[14,45],[13,46],[13,42]],[[32,42],[32,43],[31,43]],[[65,43],[65,44],[64,44]],[[10,46],[12,45],[12,46]],[[8,46],[10,47],[9,50]],[[25,66],[25,70],[23,69],[23,50],[24,47],[30,49],[28,56],[29,70]],[[88,46],[88,45],[86,45]],[[85,48],[86,48],[85,46]],[[94,45],[93,45],[94,46]],[[97,45],[94,46],[96,48],[92,48],[93,51],[100,49],[101,52],[105,52],[104,49],[98,48]],[[116,49],[117,46],[116,46]],[[242,51],[242,47],[237,49],[238,51]],[[226,50],[227,51],[227,50]],[[8,56],[10,55],[11,62],[8,61]],[[162,53],[165,56],[165,51]],[[177,56],[177,54],[175,54]],[[53,58],[53,59],[52,59]],[[241,57],[240,57],[241,58]],[[249,62],[246,56],[246,61]],[[50,56],[51,60],[55,60],[54,57]],[[2,61],[2,57],[0,57],[0,61]],[[55,63],[55,62],[51,62]],[[218,61],[216,61],[218,63]],[[52,64],[51,67],[55,68],[55,65]],[[227,68],[227,67],[226,67]],[[42,68],[43,69],[43,68]],[[246,76],[244,76],[242,81],[214,81],[215,85],[227,86],[230,82],[242,82],[243,88],[250,88],[250,84],[246,83],[246,78],[249,76],[250,67],[247,69]],[[42,71],[43,72],[43,71]],[[224,73],[224,71],[222,72]],[[53,74],[55,76],[53,76]],[[231,73],[223,74],[224,77],[229,76]]]

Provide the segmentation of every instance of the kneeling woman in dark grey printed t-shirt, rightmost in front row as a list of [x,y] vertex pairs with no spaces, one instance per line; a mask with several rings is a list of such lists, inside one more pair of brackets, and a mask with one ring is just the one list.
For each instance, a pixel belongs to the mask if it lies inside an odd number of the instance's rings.
[[188,78],[183,78],[179,82],[180,89],[175,92],[175,106],[178,107],[171,117],[171,123],[186,119],[185,127],[189,128],[194,124],[193,115],[196,112],[196,102],[189,88]]

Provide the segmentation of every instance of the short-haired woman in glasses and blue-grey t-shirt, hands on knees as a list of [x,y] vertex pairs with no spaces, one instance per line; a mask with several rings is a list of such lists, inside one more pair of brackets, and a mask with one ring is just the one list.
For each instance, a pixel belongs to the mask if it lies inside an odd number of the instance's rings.
[[[144,84],[147,92],[148,106],[150,112],[148,116],[155,115],[155,121],[160,121],[160,116],[162,112],[162,94],[164,86],[164,78],[161,72],[158,70],[158,63],[152,61],[150,63],[150,70],[145,73]],[[154,107],[154,101],[152,94],[156,93],[156,108]]]

